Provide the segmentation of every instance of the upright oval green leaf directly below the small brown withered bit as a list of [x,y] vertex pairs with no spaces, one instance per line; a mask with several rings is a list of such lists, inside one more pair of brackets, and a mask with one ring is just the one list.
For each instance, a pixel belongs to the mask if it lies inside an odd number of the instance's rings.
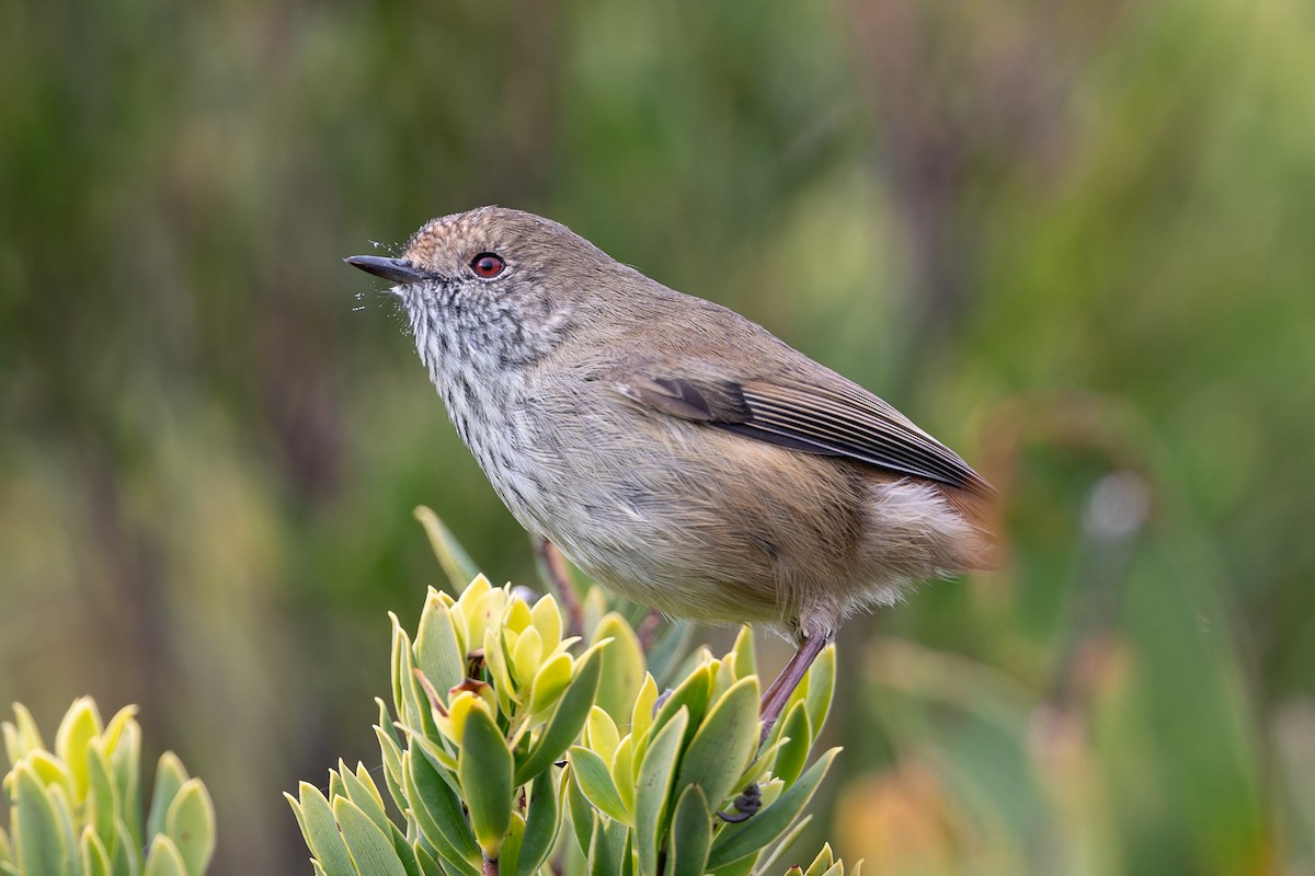
[[512,750],[488,708],[471,709],[456,756],[456,775],[475,841],[489,859],[498,856],[502,835],[512,822]]

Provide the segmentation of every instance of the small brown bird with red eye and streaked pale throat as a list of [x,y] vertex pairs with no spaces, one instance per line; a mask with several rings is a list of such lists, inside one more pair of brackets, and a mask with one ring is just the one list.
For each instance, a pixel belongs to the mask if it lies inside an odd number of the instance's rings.
[[493,489],[602,584],[798,651],[763,734],[840,623],[989,565],[992,487],[861,386],[744,317],[673,292],[558,222],[433,219],[393,284]]

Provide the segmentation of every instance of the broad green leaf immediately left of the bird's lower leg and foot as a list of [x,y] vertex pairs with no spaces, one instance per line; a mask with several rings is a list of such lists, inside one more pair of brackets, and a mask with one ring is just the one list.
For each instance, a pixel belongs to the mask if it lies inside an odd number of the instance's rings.
[[680,762],[676,793],[702,787],[711,806],[730,796],[757,749],[757,678],[735,682],[713,705]]

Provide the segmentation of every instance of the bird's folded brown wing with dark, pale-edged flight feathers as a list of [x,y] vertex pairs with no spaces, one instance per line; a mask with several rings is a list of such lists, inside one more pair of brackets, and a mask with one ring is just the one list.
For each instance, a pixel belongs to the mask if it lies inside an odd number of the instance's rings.
[[990,493],[959,454],[872,393],[847,381],[726,380],[650,373],[609,374],[627,398],[663,414],[780,447],[838,456],[897,474]]

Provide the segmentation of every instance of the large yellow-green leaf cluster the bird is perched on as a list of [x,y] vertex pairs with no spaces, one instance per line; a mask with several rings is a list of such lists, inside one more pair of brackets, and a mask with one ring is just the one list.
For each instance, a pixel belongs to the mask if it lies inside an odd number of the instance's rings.
[[375,728],[381,772],[339,762],[327,792],[302,783],[288,796],[316,872],[732,876],[772,865],[836,754],[807,763],[834,653],[760,742],[748,630],[721,658],[686,658],[663,692],[634,628],[600,612],[602,599],[585,595],[583,638],[564,634],[552,596],[531,603],[481,575],[458,598],[431,588],[414,636],[393,617],[393,701],[379,703]]

